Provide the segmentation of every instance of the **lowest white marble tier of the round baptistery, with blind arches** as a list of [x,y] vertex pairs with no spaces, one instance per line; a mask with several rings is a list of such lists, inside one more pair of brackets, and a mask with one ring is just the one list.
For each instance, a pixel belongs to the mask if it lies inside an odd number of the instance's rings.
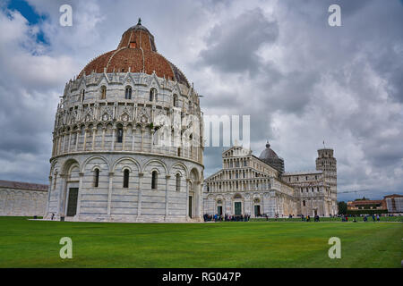
[[[99,169],[98,187],[94,187],[95,169]],[[128,188],[124,170],[129,171]],[[201,217],[201,166],[175,156],[71,155],[56,158],[52,171],[48,215],[66,215],[69,190],[78,188],[76,214],[67,220],[191,222]],[[151,189],[154,171],[157,186]]]

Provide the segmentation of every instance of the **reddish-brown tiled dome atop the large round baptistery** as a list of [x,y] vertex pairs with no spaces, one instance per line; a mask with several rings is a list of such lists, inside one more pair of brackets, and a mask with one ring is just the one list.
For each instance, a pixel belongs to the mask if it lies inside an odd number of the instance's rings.
[[78,75],[78,78],[91,72],[144,72],[152,74],[154,71],[160,78],[176,80],[189,86],[184,73],[175,64],[169,62],[163,55],[157,53],[154,36],[148,29],[137,25],[127,29],[122,35],[119,45],[115,50],[99,55],[88,63]]

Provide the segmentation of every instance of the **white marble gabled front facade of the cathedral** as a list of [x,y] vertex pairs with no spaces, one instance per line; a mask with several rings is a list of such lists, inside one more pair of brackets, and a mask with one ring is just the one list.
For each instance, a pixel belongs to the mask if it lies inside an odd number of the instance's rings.
[[278,170],[244,147],[230,147],[222,158],[223,169],[204,183],[205,214],[296,214],[294,189],[279,180]]

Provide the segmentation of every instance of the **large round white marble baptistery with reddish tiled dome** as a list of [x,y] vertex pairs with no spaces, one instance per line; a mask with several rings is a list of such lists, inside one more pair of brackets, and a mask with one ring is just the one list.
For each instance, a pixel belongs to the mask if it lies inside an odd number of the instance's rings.
[[139,20],[65,85],[45,218],[201,221],[202,130],[193,85]]

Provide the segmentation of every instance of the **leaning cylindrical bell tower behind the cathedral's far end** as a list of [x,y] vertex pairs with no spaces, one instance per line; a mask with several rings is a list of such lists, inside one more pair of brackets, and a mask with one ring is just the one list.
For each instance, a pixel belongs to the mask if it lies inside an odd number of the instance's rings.
[[323,148],[318,150],[318,157],[316,158],[316,170],[323,172],[323,181],[326,189],[330,189],[330,201],[328,206],[330,214],[338,214],[337,204],[337,160],[333,156],[333,149]]

